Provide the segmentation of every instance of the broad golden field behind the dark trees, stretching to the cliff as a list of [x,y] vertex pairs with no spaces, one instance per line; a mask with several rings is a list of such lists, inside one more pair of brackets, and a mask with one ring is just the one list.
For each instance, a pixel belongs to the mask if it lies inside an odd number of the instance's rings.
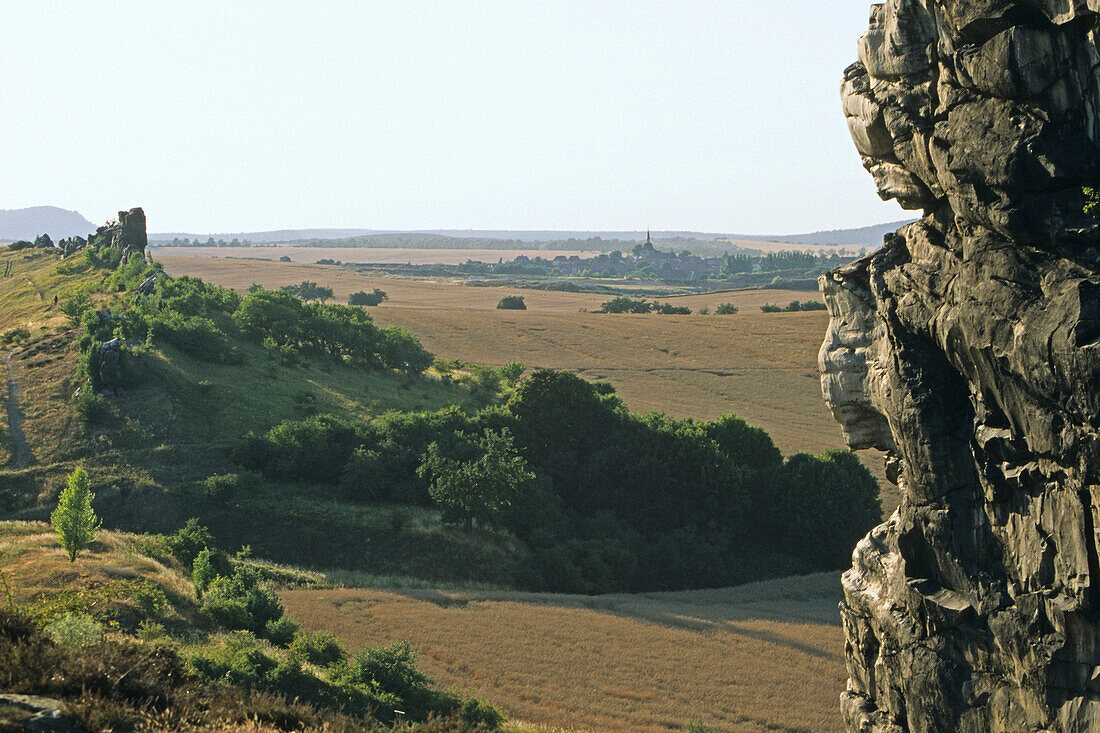
[[[372,308],[384,326],[404,326],[433,353],[487,364],[521,361],[606,380],[635,412],[713,419],[736,413],[765,428],[784,453],[844,448],[840,428],[821,396],[817,349],[824,311],[763,314],[765,303],[817,299],[816,293],[737,291],[668,298],[697,309],[734,303],[733,316],[602,315],[606,296],[473,287],[458,282],[366,276],[341,267],[256,260],[162,256],[172,274],[197,275],[244,291],[311,280],[338,302],[381,287],[389,299]],[[504,295],[522,295],[527,310],[497,310]],[[881,459],[861,459],[882,480]],[[897,500],[883,496],[890,511]]]

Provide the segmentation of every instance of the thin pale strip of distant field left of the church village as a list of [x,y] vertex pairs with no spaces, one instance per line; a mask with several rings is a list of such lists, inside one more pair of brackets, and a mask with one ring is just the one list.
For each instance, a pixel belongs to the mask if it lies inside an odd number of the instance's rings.
[[179,258],[252,258],[256,260],[278,260],[288,256],[294,262],[314,263],[318,260],[338,260],[374,264],[462,264],[466,260],[477,262],[505,262],[520,254],[529,258],[553,260],[559,254],[591,258],[598,252],[581,250],[426,250],[398,247],[150,247],[157,259]]

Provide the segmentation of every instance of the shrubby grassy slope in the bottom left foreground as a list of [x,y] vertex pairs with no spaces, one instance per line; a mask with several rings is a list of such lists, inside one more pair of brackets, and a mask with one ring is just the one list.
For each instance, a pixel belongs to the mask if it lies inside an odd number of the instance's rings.
[[[300,632],[271,587],[322,578],[222,557],[199,593],[179,540],[101,532],[70,562],[47,525],[0,522],[4,692],[55,698],[97,732],[498,729],[484,702],[435,688],[406,645],[349,650]],[[242,630],[261,612],[277,623]],[[0,730],[21,718],[0,705]]]

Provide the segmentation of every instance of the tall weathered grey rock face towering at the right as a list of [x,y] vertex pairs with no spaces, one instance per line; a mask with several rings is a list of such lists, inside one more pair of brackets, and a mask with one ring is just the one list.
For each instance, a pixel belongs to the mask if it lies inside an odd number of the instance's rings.
[[899,510],[842,604],[851,731],[1100,730],[1100,0],[889,0],[844,111],[923,210],[822,277],[820,362]]

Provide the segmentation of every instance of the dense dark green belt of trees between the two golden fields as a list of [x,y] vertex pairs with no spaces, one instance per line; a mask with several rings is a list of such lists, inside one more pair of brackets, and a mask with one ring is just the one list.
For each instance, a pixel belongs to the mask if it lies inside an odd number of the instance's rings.
[[880,517],[854,456],[783,460],[768,435],[628,413],[608,384],[554,371],[466,414],[315,416],[250,434],[242,468],[353,502],[438,503],[530,553],[515,582],[598,593],[721,587],[844,567]]

